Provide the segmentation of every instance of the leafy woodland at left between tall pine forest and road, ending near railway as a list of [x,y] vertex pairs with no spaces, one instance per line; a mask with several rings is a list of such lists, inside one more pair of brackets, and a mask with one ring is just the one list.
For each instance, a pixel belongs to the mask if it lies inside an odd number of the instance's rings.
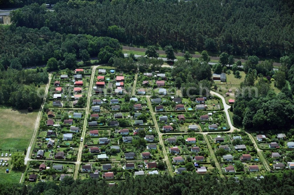
[[0,69],[11,66],[20,70],[26,66],[47,64],[49,70],[56,70],[56,61],[50,58],[61,60],[58,68],[65,69],[76,66],[78,57],[89,60],[89,55],[100,54],[103,62],[108,62],[113,55],[123,57],[118,40],[110,37],[61,35],[47,27],[38,30],[14,26],[0,28],[0,37]]

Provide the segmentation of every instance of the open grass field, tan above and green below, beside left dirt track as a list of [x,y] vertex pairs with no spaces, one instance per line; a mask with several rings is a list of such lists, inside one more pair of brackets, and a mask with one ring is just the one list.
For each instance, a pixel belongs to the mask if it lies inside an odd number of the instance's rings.
[[0,110],[0,149],[2,153],[27,148],[34,132],[38,110]]

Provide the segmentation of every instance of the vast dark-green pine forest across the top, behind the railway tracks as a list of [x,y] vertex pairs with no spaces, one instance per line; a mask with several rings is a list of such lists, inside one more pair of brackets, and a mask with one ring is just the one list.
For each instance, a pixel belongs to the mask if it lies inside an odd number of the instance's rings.
[[280,57],[294,49],[292,1],[71,0],[56,3],[54,10],[31,4],[13,11],[11,21],[180,50]]

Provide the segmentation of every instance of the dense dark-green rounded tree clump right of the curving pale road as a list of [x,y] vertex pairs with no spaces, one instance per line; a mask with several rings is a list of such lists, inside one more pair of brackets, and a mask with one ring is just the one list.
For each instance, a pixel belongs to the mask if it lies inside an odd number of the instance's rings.
[[[235,101],[233,121],[245,129],[284,129],[294,125],[294,102],[285,93],[269,90],[261,79],[256,88],[245,89]],[[251,94],[250,94],[251,91]],[[257,91],[257,96],[255,92]]]

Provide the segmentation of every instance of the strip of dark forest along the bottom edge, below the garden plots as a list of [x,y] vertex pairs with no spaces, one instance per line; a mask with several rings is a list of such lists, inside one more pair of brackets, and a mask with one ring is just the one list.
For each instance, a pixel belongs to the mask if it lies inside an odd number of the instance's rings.
[[84,179],[74,180],[66,177],[57,185],[54,182],[38,182],[36,184],[1,183],[0,194],[43,194],[43,195],[194,195],[194,194],[291,194],[294,190],[294,174],[292,171],[267,173],[264,178],[238,176],[220,178],[217,175],[198,175],[184,173],[171,177],[169,175],[126,176],[110,187],[106,180]]

